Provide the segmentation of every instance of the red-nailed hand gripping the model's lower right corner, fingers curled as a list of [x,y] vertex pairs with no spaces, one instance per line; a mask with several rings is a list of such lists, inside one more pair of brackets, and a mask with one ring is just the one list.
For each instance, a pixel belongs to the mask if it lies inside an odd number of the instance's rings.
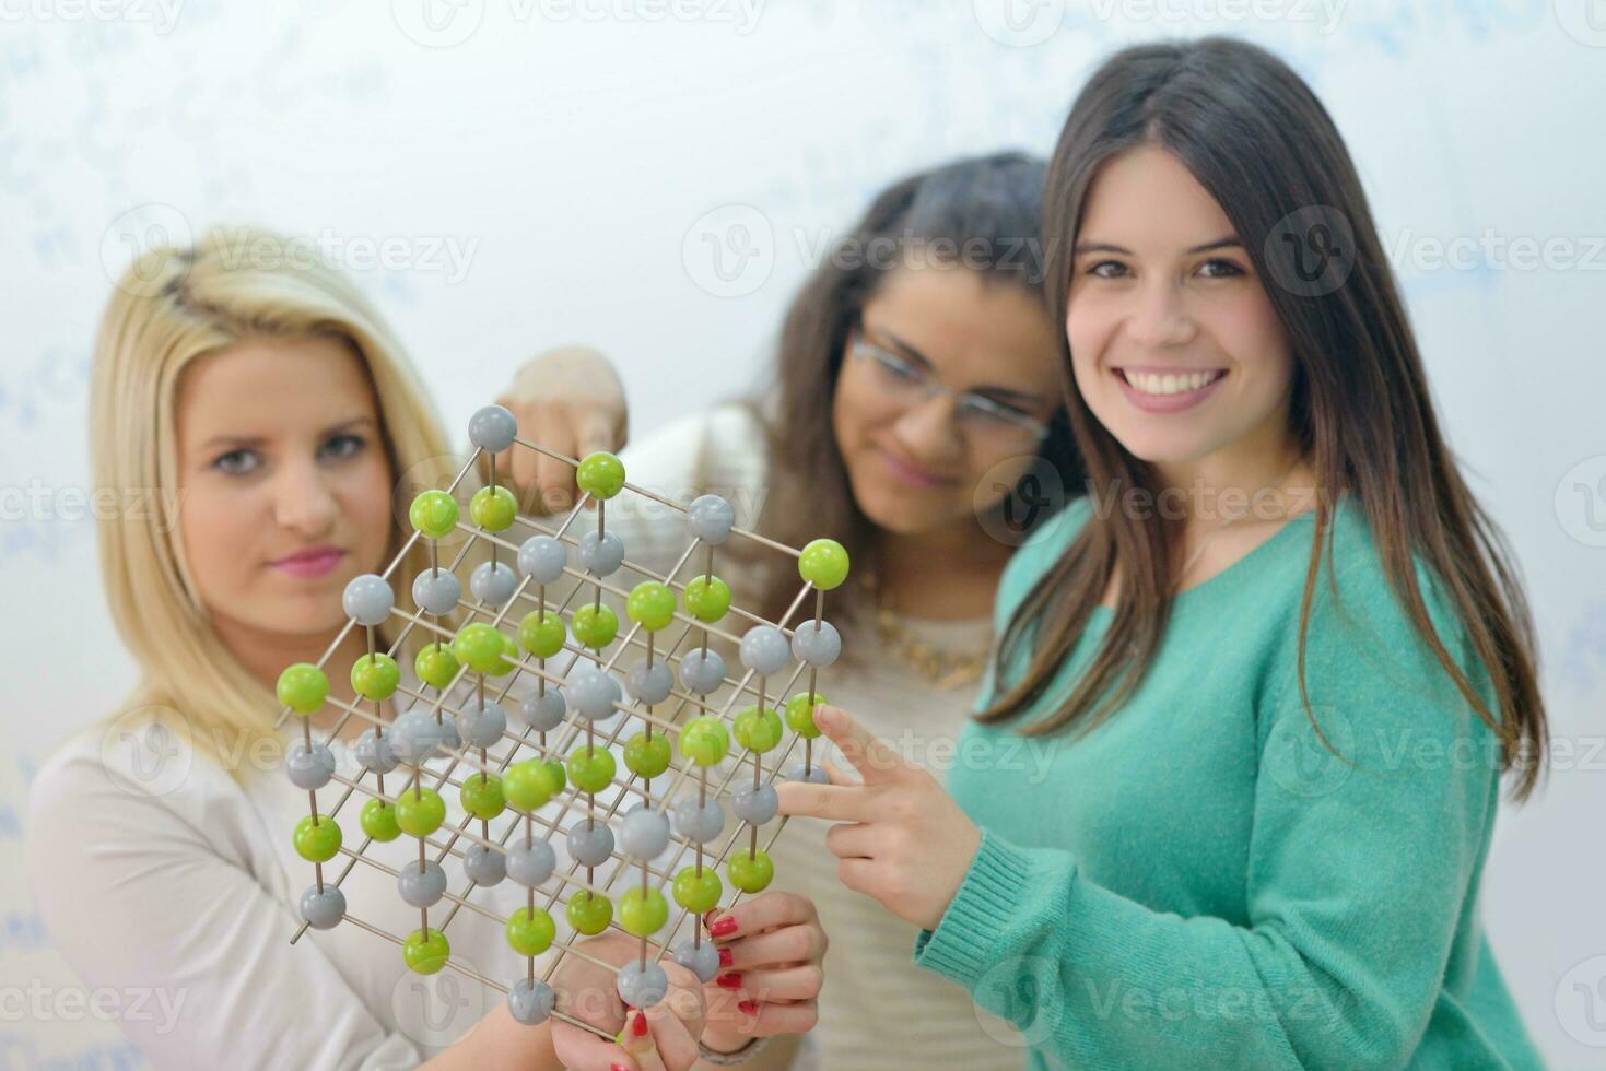
[[760,893],[729,910],[708,912],[707,923],[719,949],[719,973],[703,988],[705,1045],[736,1052],[753,1037],[814,1028],[829,941],[813,901]]

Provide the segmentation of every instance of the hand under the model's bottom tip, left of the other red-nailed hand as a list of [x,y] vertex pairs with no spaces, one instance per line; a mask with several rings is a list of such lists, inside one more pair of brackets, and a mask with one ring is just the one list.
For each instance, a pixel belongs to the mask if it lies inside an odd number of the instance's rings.
[[[646,1010],[626,1008],[613,988],[615,968],[641,955],[641,941],[610,931],[580,941],[575,947],[607,967],[573,954],[565,955],[552,979],[552,988],[565,996],[557,1010],[605,1029],[615,1040],[604,1040],[554,1016],[552,1047],[565,1068],[684,1071],[697,1063],[697,1037],[703,1029],[703,994],[694,973],[670,957],[660,959],[658,967],[670,979],[670,991],[663,1000]],[[649,944],[649,955],[657,952],[657,946]]]

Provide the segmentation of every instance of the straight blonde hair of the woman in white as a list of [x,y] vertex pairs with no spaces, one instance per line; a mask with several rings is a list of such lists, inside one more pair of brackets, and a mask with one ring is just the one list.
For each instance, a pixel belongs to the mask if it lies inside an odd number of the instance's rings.
[[[220,732],[246,743],[275,735],[279,707],[212,628],[185,562],[177,511],[167,506],[177,503],[175,393],[185,368],[254,337],[342,339],[373,382],[393,478],[451,453],[402,344],[358,289],[307,259],[252,252],[262,249],[283,252],[287,242],[231,226],[209,231],[191,249],[167,246],[135,259],[101,318],[90,379],[95,487],[145,488],[162,503],[143,517],[100,520],[106,601],[141,670],[114,716],[169,708],[191,743],[215,758],[210,745]],[[405,535],[400,525],[392,531],[387,564]],[[403,599],[427,567],[419,541],[390,576]]]

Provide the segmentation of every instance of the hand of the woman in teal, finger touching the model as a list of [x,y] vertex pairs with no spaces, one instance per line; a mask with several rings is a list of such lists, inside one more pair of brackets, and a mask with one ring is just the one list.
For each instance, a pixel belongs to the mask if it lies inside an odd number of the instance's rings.
[[843,822],[825,832],[837,878],[899,918],[936,930],[976,857],[981,830],[931,774],[843,711],[819,707],[814,724],[864,784],[827,764],[829,785],[776,785],[781,814]]

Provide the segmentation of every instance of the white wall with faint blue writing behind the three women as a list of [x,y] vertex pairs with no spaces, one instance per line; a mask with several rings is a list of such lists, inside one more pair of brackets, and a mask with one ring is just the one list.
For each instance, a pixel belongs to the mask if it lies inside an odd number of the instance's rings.
[[[1547,1057],[1606,1066],[1590,3],[0,0],[0,1066],[135,1060],[114,1028],[8,996],[74,984],[16,865],[31,771],[132,681],[82,499],[90,342],[130,234],[321,238],[454,429],[517,361],[586,340],[650,430],[755,382],[793,286],[872,189],[956,154],[1047,153],[1102,55],[1201,32],[1270,45],[1331,109],[1450,440],[1514,543],[1558,769],[1503,816],[1484,917]],[[1445,265],[1445,246],[1465,255]]]

